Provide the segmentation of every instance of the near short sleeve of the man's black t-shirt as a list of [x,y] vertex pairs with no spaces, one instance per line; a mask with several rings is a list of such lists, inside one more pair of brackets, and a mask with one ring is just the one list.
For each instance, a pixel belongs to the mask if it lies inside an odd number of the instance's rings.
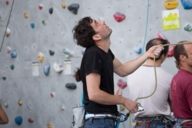
[[86,55],[85,60],[85,74],[88,75],[90,73],[101,73],[102,59],[99,53],[97,52],[89,52]]

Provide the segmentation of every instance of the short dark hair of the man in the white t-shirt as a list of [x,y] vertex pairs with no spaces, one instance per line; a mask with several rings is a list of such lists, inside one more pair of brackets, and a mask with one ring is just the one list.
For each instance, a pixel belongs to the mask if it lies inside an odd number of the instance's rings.
[[[160,42],[160,43],[159,43]],[[169,44],[169,41],[166,39],[161,39],[161,38],[154,38],[148,41],[147,45],[146,45],[146,51],[151,48],[154,45],[159,45],[159,44]],[[158,58],[155,58],[155,60],[159,60],[161,58],[162,55],[167,55],[169,50],[169,46],[164,46],[164,49],[161,51],[160,55],[158,56]],[[153,59],[153,58],[151,58]]]

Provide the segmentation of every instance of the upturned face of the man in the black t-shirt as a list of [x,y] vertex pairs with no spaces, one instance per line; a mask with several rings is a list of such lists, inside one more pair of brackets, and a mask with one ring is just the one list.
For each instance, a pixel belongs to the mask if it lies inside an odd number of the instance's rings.
[[101,36],[101,39],[109,38],[112,33],[112,29],[102,20],[93,20],[91,26],[95,30],[96,34]]

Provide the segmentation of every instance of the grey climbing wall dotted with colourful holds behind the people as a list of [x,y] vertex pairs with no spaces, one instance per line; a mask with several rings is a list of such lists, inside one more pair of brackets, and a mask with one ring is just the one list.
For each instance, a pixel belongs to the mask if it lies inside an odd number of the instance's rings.
[[[140,56],[154,37],[190,40],[191,10],[180,1],[176,10],[163,5],[163,0],[0,0],[0,103],[10,120],[0,128],[72,127],[72,108],[82,97],[82,84],[73,76],[84,50],[74,43],[72,29],[84,16],[103,19],[113,29],[111,49],[122,62]],[[177,71],[172,57],[163,66]]]

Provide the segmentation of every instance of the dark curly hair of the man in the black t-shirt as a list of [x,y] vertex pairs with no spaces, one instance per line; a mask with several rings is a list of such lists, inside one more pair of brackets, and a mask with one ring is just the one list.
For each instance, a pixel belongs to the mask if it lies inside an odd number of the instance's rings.
[[76,43],[84,48],[95,45],[93,35],[96,33],[90,25],[93,19],[90,17],[84,17],[78,24],[73,28],[73,38]]

